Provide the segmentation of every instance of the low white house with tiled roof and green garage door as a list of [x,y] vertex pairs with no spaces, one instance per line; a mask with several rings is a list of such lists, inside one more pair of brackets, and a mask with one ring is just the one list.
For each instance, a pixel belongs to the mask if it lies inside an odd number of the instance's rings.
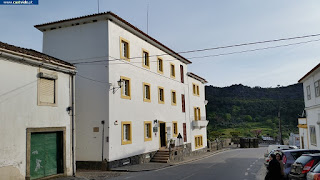
[[75,67],[0,42],[0,179],[72,175]]

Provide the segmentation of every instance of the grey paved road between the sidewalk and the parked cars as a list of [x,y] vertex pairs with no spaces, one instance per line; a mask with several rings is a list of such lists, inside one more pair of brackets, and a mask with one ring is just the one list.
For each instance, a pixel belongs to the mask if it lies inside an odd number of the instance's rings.
[[266,148],[232,149],[205,159],[148,172],[128,173],[113,180],[256,180],[264,179]]

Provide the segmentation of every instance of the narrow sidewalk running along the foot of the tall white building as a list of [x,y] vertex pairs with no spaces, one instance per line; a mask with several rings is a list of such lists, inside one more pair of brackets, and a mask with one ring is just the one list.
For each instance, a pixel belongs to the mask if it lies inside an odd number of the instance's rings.
[[204,158],[213,156],[217,153],[227,151],[227,150],[230,150],[233,148],[236,148],[236,147],[228,147],[228,148],[220,149],[220,150],[213,151],[213,152],[206,152],[206,153],[199,155],[199,156],[185,157],[183,161],[179,161],[179,162],[170,162],[170,163],[149,162],[149,163],[144,163],[144,164],[128,165],[128,166],[113,168],[113,169],[111,169],[111,171],[79,170],[79,171],[77,171],[76,177],[55,178],[55,180],[91,180],[91,179],[102,180],[102,179],[108,179],[108,178],[112,178],[112,177],[121,176],[121,175],[126,174],[128,172],[152,171],[152,170],[166,168],[169,166],[185,164],[185,163],[189,163],[192,161],[204,159]]

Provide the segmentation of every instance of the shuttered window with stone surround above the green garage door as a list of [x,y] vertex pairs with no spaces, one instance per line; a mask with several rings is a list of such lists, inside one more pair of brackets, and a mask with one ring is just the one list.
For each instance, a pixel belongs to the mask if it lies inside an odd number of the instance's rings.
[[57,105],[57,79],[56,73],[39,73],[38,79],[38,105]]

